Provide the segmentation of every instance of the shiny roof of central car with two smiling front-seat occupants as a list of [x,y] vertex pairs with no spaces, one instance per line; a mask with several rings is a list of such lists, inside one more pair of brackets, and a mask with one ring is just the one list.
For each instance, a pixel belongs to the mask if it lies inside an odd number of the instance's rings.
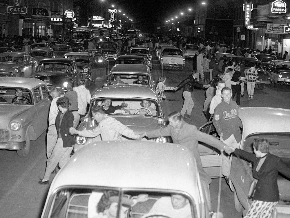
[[95,91],[94,98],[134,98],[134,99],[154,99],[158,101],[156,92],[145,85],[126,84],[103,87]]

